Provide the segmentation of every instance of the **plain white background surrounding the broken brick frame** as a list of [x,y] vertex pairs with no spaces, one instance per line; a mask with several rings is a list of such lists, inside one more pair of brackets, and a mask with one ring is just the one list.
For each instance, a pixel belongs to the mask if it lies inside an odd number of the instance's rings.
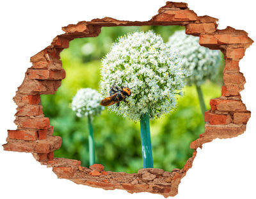
[[[40,3],[39,3],[40,2]],[[256,41],[253,1],[191,1],[189,8],[198,16],[219,19],[219,29],[243,29]],[[3,145],[7,129],[16,129],[16,105],[12,97],[24,79],[29,58],[51,44],[61,27],[81,20],[113,17],[120,20],[150,20],[165,1],[1,1],[1,133]],[[203,145],[179,186],[174,198],[256,198],[255,194],[255,45],[246,50],[239,62],[246,78],[242,100],[252,118],[247,130],[232,139],[215,139]],[[57,179],[31,154],[4,152],[0,147],[0,198],[163,198],[149,193],[105,191]]]

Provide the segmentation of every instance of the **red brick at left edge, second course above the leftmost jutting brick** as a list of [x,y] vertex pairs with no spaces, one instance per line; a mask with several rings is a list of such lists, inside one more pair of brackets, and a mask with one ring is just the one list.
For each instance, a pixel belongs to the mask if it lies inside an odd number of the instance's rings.
[[22,128],[28,129],[48,129],[50,125],[49,118],[19,118],[19,124]]

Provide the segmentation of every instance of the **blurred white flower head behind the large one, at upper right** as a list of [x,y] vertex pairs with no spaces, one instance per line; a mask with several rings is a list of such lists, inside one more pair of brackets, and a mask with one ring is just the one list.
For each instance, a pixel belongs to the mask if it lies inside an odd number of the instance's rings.
[[186,78],[189,86],[200,86],[205,80],[212,80],[218,74],[220,51],[212,51],[199,45],[197,36],[186,35],[185,31],[176,31],[170,36],[168,43],[179,49],[184,56],[183,67],[188,68],[191,76]]

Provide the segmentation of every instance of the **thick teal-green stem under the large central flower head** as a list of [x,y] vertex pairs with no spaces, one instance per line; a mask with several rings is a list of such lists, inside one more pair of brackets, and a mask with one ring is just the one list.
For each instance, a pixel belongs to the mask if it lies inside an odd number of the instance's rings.
[[148,113],[145,113],[140,117],[140,133],[143,168],[154,168]]

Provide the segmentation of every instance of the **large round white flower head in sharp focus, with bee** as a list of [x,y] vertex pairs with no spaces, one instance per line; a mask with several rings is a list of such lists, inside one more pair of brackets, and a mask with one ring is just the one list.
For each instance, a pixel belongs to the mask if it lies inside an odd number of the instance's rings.
[[177,49],[163,42],[154,31],[135,32],[118,38],[102,59],[101,93],[109,96],[111,85],[131,88],[127,103],[109,106],[117,115],[137,122],[143,113],[150,119],[168,115],[176,107],[176,95],[183,95],[184,76],[189,73],[181,66]]

